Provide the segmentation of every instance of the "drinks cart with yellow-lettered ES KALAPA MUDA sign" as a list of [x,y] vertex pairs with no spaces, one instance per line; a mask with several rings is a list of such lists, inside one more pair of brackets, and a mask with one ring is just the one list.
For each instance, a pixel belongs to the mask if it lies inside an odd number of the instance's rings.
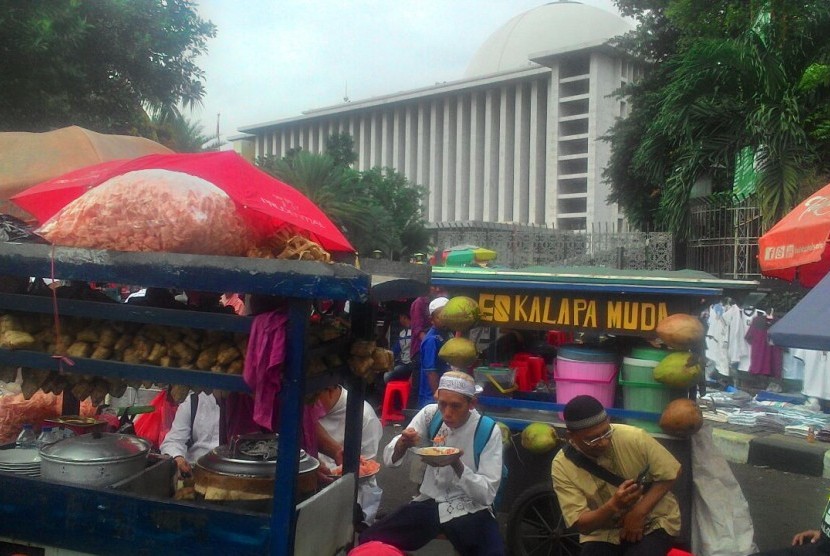
[[[478,302],[483,324],[527,330],[560,330],[591,336],[656,337],[657,323],[674,313],[697,315],[724,295],[739,297],[756,282],[721,280],[698,271],[650,272],[605,268],[487,269],[436,267],[432,285],[450,296],[465,295]],[[564,436],[558,414],[564,405],[548,399],[482,396],[480,407],[521,431],[534,421],[546,422]],[[657,421],[660,414],[609,408],[612,420]],[[683,465],[675,494],[683,510],[683,537],[689,540],[691,509],[691,450],[688,439],[662,433],[654,436]],[[578,534],[568,530],[550,485],[555,452],[533,454],[518,442],[505,451],[509,468],[503,508],[509,508],[507,547],[510,554],[577,553]]]

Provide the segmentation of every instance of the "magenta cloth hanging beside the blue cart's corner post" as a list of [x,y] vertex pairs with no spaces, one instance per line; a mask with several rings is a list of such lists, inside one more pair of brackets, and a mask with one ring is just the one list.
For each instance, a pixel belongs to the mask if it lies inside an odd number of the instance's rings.
[[288,315],[271,311],[254,317],[242,378],[254,392],[254,422],[273,430],[273,416],[279,411],[277,395],[282,389],[285,337]]

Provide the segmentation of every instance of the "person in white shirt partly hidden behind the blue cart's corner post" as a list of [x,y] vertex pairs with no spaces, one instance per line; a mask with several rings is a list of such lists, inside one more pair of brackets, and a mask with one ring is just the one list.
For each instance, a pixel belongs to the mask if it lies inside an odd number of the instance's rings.
[[[335,452],[333,454],[335,457],[323,453],[324,446],[321,446],[321,451],[318,452],[317,457],[320,459],[320,463],[329,469],[343,463],[343,439],[346,434],[346,402],[348,397],[349,392],[342,386],[327,388],[320,393],[319,401],[323,409],[326,410],[326,414],[320,418],[319,424],[328,433],[331,441],[336,443],[336,446],[334,449],[328,446],[325,447],[327,451]],[[364,401],[363,434],[361,435],[360,444],[360,456],[363,459],[374,459],[377,456],[381,436],[383,436],[383,426],[380,419],[378,419],[372,406]],[[383,489],[378,486],[377,479],[374,476],[361,479],[357,491],[357,502],[363,509],[364,521],[367,524],[374,522],[382,494]]]

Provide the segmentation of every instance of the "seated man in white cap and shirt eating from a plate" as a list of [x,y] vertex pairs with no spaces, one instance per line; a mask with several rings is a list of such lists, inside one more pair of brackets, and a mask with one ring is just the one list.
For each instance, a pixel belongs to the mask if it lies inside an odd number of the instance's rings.
[[[445,373],[438,384],[438,403],[421,409],[409,427],[386,446],[383,462],[388,467],[399,467],[413,447],[435,444],[460,452],[441,466],[427,462],[418,496],[366,529],[361,543],[381,541],[412,551],[443,533],[462,556],[505,554],[491,508],[502,477],[501,432],[492,419],[475,409],[475,395],[470,375]],[[430,438],[430,429],[435,430],[438,423],[437,433]],[[488,424],[489,436],[477,450],[476,433],[479,427],[487,430]]]

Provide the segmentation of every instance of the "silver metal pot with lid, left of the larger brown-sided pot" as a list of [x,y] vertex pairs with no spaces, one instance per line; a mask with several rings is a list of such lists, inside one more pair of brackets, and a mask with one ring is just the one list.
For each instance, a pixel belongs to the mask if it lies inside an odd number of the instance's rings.
[[136,436],[83,434],[41,448],[40,474],[62,483],[110,486],[141,472],[149,452],[150,443]]

